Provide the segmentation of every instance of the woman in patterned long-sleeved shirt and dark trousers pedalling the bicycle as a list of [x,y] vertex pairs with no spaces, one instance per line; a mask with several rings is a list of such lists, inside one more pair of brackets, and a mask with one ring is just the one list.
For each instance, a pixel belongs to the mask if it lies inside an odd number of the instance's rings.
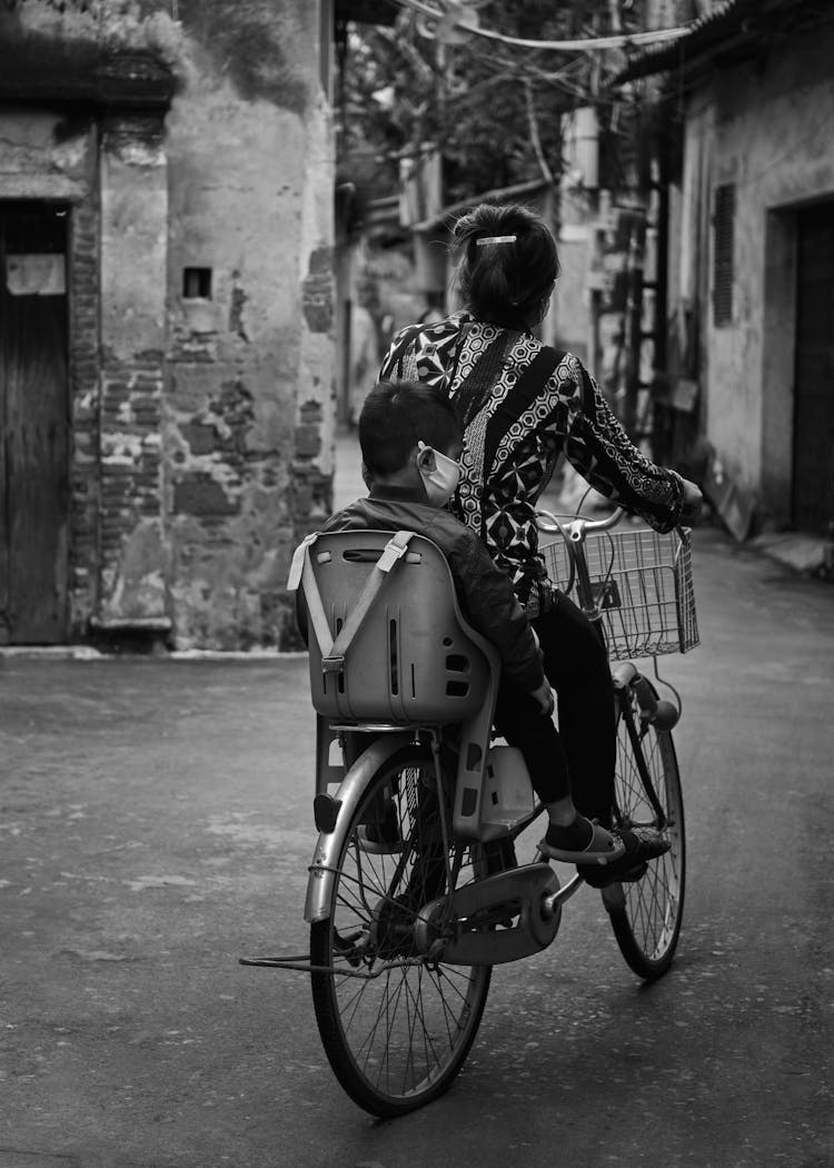
[[[658,531],[694,519],[701,492],[630,442],[577,357],[533,335],[560,270],[543,221],[526,207],[484,203],[458,220],[452,243],[465,308],[398,333],[380,380],[442,385],[458,406],[465,452],[452,509],[480,535],[527,609],[558,700],[562,749],[552,765],[567,773],[582,813],[567,800],[563,816],[551,814],[544,850],[597,850],[602,832],[588,821],[610,827],[616,758],[607,655],[595,626],[547,578],[535,505],[562,452],[593,487]],[[499,729],[502,722],[512,724],[512,711],[499,707]],[[626,854],[619,868],[609,865],[606,880],[668,847],[656,833],[619,834]],[[579,870],[593,880],[593,869]]]

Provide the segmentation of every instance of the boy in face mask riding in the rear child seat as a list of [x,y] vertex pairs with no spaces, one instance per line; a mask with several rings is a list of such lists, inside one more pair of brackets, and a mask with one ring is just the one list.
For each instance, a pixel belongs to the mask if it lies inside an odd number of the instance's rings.
[[500,655],[495,726],[521,750],[533,788],[548,812],[542,851],[576,863],[595,887],[641,876],[647,861],[668,850],[668,842],[649,829],[606,830],[577,809],[574,795],[581,804],[582,792],[571,791],[535,633],[509,577],[493,563],[478,536],[446,509],[458,485],[463,452],[454,405],[424,382],[380,382],[366,397],[359,438],[368,498],[332,516],[324,530],[409,530],[438,545],[466,620]]

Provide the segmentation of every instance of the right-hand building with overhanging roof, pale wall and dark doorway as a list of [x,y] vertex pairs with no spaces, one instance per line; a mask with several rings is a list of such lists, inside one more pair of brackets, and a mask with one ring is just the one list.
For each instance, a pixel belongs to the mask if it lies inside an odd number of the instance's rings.
[[725,0],[620,77],[681,117],[670,347],[742,535],[834,530],[832,61],[834,4]]

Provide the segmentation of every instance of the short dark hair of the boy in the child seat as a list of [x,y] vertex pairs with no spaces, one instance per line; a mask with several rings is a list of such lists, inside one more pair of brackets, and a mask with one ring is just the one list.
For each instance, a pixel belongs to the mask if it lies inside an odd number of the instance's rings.
[[359,444],[371,475],[401,471],[418,442],[445,451],[461,438],[452,402],[421,381],[381,381],[359,416]]

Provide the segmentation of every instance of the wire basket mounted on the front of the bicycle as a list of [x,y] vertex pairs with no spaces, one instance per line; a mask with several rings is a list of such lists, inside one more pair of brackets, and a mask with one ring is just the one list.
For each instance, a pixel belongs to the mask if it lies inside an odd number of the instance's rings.
[[[688,530],[592,531],[584,550],[612,660],[695,648],[700,638]],[[568,590],[572,573],[565,541],[541,552],[550,580]]]

